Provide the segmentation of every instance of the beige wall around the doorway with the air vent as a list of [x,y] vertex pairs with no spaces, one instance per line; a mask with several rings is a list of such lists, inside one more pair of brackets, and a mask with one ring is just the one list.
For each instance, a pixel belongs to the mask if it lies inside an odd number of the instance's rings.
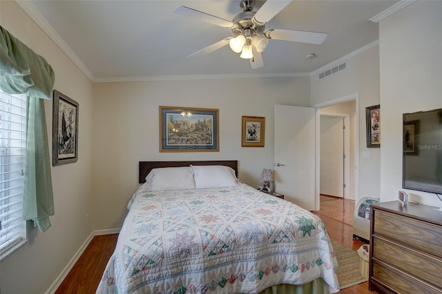
[[[365,108],[379,104],[379,54],[378,46],[366,50],[347,61],[347,70],[318,80],[318,75],[312,75],[311,105],[327,105],[345,97],[358,97],[358,138],[356,148],[358,157],[354,159],[354,166],[359,163],[356,170],[358,190],[355,191],[356,202],[362,197],[379,197],[380,195],[380,155],[379,148],[367,148],[365,130]],[[382,106],[381,106],[381,111]],[[381,112],[382,114],[383,112]],[[381,132],[383,130],[381,129]],[[381,144],[382,145],[382,144]],[[357,147],[359,146],[359,147]],[[363,153],[370,153],[370,159],[363,159]]]

